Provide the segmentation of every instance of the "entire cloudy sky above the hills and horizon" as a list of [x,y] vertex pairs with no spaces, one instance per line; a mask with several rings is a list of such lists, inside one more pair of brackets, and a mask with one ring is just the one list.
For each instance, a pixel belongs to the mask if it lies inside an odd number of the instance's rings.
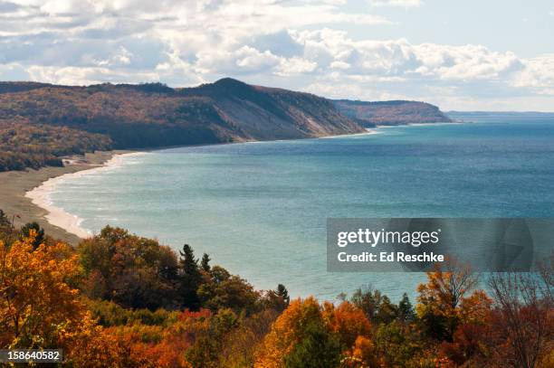
[[0,0],[0,80],[554,111],[554,0]]

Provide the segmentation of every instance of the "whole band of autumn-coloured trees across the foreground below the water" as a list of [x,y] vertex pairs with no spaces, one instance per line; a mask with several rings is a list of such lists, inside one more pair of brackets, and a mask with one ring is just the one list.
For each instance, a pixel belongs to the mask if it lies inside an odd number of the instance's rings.
[[0,348],[63,348],[83,367],[551,367],[554,273],[450,262],[414,307],[372,288],[290,300],[118,228],[77,249],[0,213]]

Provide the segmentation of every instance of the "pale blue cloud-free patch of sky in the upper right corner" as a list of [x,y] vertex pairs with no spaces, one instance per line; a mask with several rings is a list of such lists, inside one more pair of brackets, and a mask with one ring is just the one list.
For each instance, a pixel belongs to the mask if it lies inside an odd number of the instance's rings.
[[[369,2],[351,2],[360,11]],[[410,2],[406,2],[410,3]],[[410,42],[463,45],[482,44],[494,51],[533,57],[554,52],[554,1],[552,0],[425,0],[419,6],[373,7],[372,13],[399,26],[379,27],[380,39],[406,37]],[[360,8],[359,5],[362,7]],[[349,28],[356,38],[368,35]]]

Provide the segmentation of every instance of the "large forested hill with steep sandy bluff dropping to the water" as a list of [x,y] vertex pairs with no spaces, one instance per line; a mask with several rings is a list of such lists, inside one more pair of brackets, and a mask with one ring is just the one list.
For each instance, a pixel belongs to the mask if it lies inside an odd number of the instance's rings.
[[0,171],[55,165],[58,156],[108,147],[291,139],[362,131],[363,127],[341,115],[328,99],[232,79],[187,89],[159,83],[89,87],[0,83]]

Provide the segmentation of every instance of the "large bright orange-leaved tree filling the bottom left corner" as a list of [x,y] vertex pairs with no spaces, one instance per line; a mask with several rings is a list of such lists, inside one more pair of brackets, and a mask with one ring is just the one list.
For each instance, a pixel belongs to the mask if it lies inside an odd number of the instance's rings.
[[38,245],[29,236],[6,247],[0,241],[0,347],[63,349],[80,367],[137,366],[128,346],[106,335],[73,287],[81,276],[68,245]]

